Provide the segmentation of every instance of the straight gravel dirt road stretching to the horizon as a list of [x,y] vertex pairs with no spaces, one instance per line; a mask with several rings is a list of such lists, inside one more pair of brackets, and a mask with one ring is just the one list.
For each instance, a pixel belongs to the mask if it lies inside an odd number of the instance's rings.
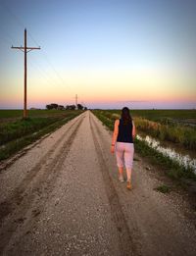
[[110,144],[87,111],[1,171],[1,255],[196,255],[188,202],[138,156],[126,190]]

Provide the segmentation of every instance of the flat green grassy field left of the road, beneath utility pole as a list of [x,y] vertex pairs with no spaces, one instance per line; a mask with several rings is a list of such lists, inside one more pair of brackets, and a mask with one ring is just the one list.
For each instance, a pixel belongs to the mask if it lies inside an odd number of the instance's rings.
[[0,161],[79,115],[77,110],[0,110]]

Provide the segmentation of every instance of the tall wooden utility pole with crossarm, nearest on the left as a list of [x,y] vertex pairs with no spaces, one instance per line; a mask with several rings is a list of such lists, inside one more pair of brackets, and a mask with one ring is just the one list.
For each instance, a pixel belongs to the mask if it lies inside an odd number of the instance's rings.
[[26,28],[25,28],[25,45],[24,47],[11,47],[12,49],[18,49],[25,53],[25,77],[24,77],[24,119],[27,118],[27,107],[26,107],[26,83],[27,83],[27,53],[31,50],[40,50],[40,47],[27,47]]

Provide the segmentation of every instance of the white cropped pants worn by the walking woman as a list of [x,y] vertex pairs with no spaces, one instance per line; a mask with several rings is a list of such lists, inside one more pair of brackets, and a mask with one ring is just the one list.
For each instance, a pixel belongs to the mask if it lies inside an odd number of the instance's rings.
[[134,144],[117,142],[115,152],[118,167],[123,167],[123,165],[125,165],[126,169],[131,169],[133,163]]

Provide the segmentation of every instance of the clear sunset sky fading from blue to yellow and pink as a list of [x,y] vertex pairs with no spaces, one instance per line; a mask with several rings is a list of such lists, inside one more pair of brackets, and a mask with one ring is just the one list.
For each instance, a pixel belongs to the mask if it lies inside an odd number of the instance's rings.
[[196,108],[195,0],[0,0],[0,108]]

